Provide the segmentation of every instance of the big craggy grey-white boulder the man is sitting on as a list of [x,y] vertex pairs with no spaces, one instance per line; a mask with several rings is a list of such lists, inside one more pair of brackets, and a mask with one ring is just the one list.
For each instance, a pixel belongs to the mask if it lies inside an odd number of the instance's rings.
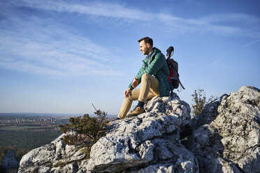
[[154,97],[146,113],[114,121],[92,146],[89,172],[198,172],[194,155],[180,144],[179,130],[190,122],[190,107],[175,94]]

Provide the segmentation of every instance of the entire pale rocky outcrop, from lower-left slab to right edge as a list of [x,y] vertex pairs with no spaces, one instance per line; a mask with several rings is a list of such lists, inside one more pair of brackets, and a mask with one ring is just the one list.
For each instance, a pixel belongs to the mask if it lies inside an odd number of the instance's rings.
[[89,159],[61,135],[23,156],[19,172],[260,172],[259,89],[224,95],[194,119],[176,94],[148,100],[145,110],[113,121]]

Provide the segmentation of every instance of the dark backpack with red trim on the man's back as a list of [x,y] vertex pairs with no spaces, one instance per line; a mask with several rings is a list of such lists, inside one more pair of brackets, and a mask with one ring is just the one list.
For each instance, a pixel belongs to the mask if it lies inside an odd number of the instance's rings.
[[168,76],[168,80],[173,85],[173,89],[178,89],[179,85],[182,87],[182,89],[185,89],[185,87],[183,87],[179,79],[180,75],[178,73],[178,62],[171,59],[171,56],[173,56],[174,48],[171,46],[168,48],[168,50],[166,50],[166,52],[167,52],[166,62],[170,70],[170,75]]

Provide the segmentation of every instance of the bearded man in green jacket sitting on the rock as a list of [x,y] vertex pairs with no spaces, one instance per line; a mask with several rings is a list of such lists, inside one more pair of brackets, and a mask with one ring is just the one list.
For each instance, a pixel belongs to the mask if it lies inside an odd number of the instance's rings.
[[[161,54],[161,51],[156,47],[152,47],[152,38],[141,38],[138,42],[140,43],[140,51],[147,57],[143,60],[143,66],[136,77],[129,84],[129,88],[124,91],[124,102],[117,120],[126,117],[133,100],[138,100],[138,105],[128,116],[142,114],[145,112],[144,105],[147,99],[154,96],[168,96],[172,90],[171,83],[168,81],[170,72],[164,54]],[[141,84],[140,89],[136,89],[138,84]]]

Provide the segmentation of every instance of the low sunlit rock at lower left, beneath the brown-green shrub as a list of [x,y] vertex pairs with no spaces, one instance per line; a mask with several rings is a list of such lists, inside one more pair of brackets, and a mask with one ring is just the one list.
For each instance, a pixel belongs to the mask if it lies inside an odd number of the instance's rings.
[[63,137],[22,156],[19,172],[78,172],[77,162],[86,154],[80,147],[64,144]]

